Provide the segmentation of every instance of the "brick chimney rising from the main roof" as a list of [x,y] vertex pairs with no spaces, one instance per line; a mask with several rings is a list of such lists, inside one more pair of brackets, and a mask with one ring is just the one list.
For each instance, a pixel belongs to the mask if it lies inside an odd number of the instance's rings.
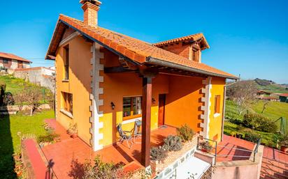
[[101,2],[97,0],[81,0],[80,3],[82,3],[82,10],[84,10],[84,24],[97,27]]

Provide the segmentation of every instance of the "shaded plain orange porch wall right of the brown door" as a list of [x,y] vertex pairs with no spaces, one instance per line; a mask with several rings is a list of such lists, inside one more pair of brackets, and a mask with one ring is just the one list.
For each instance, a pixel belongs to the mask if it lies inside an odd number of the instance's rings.
[[195,132],[200,128],[202,78],[171,76],[166,95],[165,123],[175,127],[187,123]]

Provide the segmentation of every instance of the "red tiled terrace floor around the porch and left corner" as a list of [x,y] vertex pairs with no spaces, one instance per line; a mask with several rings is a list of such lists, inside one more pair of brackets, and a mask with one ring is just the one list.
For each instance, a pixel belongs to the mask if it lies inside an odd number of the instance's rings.
[[[57,127],[55,120],[52,120],[52,125],[56,126],[56,133],[66,135],[66,130],[62,127]],[[59,125],[59,124],[58,124]],[[176,129],[173,127],[166,127],[157,129],[151,132],[151,146],[159,146],[163,143],[163,139],[169,134],[176,134]],[[64,137],[65,138],[65,137]],[[62,140],[60,142],[45,146],[42,148],[45,157],[54,162],[53,171],[57,178],[72,178],[69,172],[73,171],[71,164],[80,166],[86,159],[94,159],[96,155],[100,155],[103,162],[114,162],[115,164],[130,164],[126,170],[135,169],[140,166],[141,160],[141,137],[136,139],[131,148],[127,147],[127,143],[117,143],[114,146],[108,146],[94,152],[90,146],[87,145],[80,138]]]

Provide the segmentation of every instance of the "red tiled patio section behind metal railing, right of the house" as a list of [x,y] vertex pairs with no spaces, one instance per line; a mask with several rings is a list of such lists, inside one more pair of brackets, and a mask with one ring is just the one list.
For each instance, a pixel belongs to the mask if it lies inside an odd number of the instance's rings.
[[[223,141],[217,144],[217,162],[229,162],[235,160],[249,159],[255,143],[224,135]],[[213,150],[215,153],[215,150]],[[224,156],[221,156],[224,155]],[[244,157],[237,157],[244,156]],[[247,157],[246,157],[247,156]]]

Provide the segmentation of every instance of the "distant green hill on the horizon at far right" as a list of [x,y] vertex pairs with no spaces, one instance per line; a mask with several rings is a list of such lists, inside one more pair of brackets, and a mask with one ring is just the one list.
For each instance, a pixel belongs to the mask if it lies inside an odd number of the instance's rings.
[[287,84],[276,84],[272,80],[267,79],[254,79],[259,90],[264,90],[270,93],[288,93]]

